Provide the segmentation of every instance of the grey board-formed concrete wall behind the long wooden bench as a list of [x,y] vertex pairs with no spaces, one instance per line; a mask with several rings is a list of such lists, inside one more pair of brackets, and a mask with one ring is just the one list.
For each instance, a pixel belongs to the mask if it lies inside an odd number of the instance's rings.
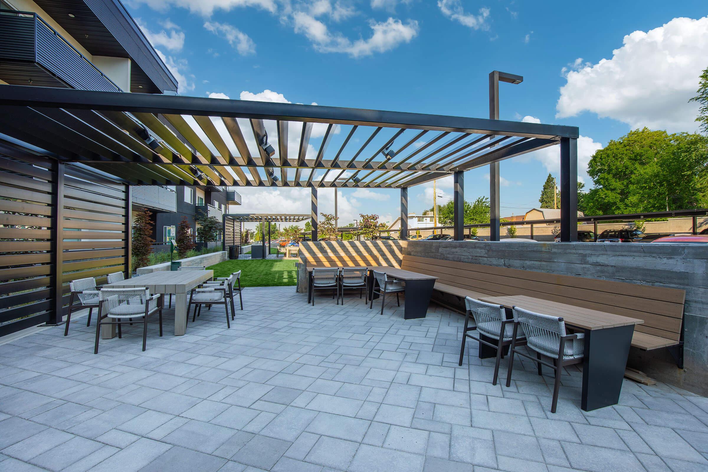
[[[505,243],[464,241],[339,241],[301,243],[325,253],[391,254],[537,270],[686,291],[685,365],[678,369],[668,350],[632,348],[629,366],[655,379],[708,395],[708,248],[660,243]],[[326,245],[321,246],[321,245]],[[312,246],[308,246],[312,245]],[[302,268],[301,268],[302,270]],[[300,275],[301,290],[306,280]],[[442,300],[441,300],[442,301]]]

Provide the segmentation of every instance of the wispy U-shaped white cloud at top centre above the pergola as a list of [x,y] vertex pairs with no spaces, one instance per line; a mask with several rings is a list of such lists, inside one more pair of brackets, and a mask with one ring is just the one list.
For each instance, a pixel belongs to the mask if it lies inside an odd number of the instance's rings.
[[389,18],[376,23],[371,21],[369,27],[372,35],[368,39],[355,41],[346,38],[341,33],[331,33],[327,25],[304,11],[296,11],[292,15],[295,33],[303,34],[309,39],[315,50],[319,52],[343,52],[351,57],[368,56],[375,52],[386,52],[404,42],[410,42],[418,35],[418,22],[408,20],[402,23],[399,19]]

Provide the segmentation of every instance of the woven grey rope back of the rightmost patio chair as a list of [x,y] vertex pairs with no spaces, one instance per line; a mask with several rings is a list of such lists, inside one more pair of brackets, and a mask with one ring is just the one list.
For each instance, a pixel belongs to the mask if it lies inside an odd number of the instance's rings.
[[[566,323],[558,316],[535,313],[514,306],[514,321],[518,322],[526,333],[529,347],[542,354],[556,357],[561,336],[566,335]],[[564,355],[573,355],[573,343],[566,343]]]

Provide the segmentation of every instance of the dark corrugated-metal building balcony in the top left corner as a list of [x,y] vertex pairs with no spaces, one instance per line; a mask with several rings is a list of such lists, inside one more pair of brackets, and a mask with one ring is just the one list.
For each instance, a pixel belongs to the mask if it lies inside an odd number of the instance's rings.
[[122,91],[32,12],[0,14],[0,79],[11,85]]

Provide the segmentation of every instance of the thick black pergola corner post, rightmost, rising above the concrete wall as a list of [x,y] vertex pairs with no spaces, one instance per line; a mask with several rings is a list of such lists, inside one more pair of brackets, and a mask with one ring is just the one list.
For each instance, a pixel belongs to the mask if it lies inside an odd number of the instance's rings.
[[578,139],[561,138],[561,242],[578,241]]

